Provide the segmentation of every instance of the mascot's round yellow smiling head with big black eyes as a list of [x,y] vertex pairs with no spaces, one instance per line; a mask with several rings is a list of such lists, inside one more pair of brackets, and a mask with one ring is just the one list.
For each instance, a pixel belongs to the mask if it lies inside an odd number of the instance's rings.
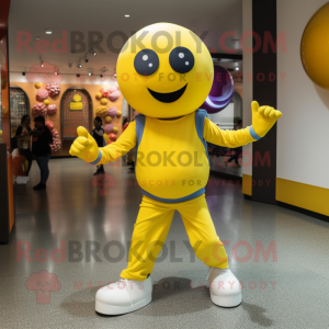
[[116,77],[134,110],[151,117],[177,117],[203,104],[213,86],[214,66],[207,47],[192,31],[158,23],[126,42]]

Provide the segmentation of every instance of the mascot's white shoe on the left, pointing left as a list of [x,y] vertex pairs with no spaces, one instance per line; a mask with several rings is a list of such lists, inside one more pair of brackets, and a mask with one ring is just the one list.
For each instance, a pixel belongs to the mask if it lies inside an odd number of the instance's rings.
[[152,299],[150,276],[145,281],[122,279],[101,287],[95,295],[95,310],[105,315],[134,311]]

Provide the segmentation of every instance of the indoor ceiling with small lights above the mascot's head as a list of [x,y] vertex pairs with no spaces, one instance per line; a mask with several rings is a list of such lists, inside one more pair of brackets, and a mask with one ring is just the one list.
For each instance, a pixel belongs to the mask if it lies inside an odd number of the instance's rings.
[[[125,18],[129,14],[129,18]],[[29,71],[33,65],[44,61],[55,65],[60,73],[101,73],[103,68],[107,72],[115,71],[117,54],[111,52],[106,46],[107,36],[115,32],[131,35],[139,29],[157,23],[169,22],[185,26],[194,31],[198,36],[207,33],[204,43],[209,50],[224,54],[219,47],[219,37],[227,31],[237,32],[237,36],[228,36],[226,46],[236,48],[241,54],[238,39],[242,33],[242,0],[57,0],[54,2],[45,0],[12,0],[9,18],[9,52],[10,71]],[[52,30],[52,34],[46,34]],[[19,50],[20,37],[18,32],[23,31],[32,36],[29,44],[33,54],[24,48]],[[52,49],[46,54],[38,54],[35,49],[36,38],[46,39],[52,43],[63,39],[63,32],[67,31],[67,52],[56,54]],[[87,50],[71,53],[70,35],[79,32],[88,41],[90,32],[99,32],[102,35],[100,46],[104,53],[97,52],[93,56],[92,46],[87,45]],[[98,37],[94,37],[98,38]],[[88,44],[88,43],[87,43]],[[121,48],[121,37],[113,39],[113,46]],[[59,46],[58,46],[59,48]],[[88,63],[86,63],[86,57]],[[82,67],[78,68],[81,63]],[[216,64],[219,64],[216,60]],[[241,60],[225,60],[220,64],[227,68],[240,67]],[[236,77],[236,76],[235,76]]]

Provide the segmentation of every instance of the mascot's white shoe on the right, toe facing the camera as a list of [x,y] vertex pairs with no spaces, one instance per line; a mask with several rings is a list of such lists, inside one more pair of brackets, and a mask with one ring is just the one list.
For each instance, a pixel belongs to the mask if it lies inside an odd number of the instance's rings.
[[238,279],[229,269],[209,268],[211,299],[222,307],[235,307],[241,304],[242,294]]

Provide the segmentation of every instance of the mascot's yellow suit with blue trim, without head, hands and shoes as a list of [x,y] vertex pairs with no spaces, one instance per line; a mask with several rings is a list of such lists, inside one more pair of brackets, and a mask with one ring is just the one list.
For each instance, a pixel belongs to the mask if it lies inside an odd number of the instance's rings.
[[136,178],[144,196],[123,279],[144,281],[151,273],[174,211],[182,216],[197,258],[213,268],[228,268],[204,196],[209,177],[206,141],[235,148],[254,141],[251,133],[251,127],[222,131],[204,110],[175,120],[140,114],[115,143],[100,148],[98,164],[114,161],[137,145]]

